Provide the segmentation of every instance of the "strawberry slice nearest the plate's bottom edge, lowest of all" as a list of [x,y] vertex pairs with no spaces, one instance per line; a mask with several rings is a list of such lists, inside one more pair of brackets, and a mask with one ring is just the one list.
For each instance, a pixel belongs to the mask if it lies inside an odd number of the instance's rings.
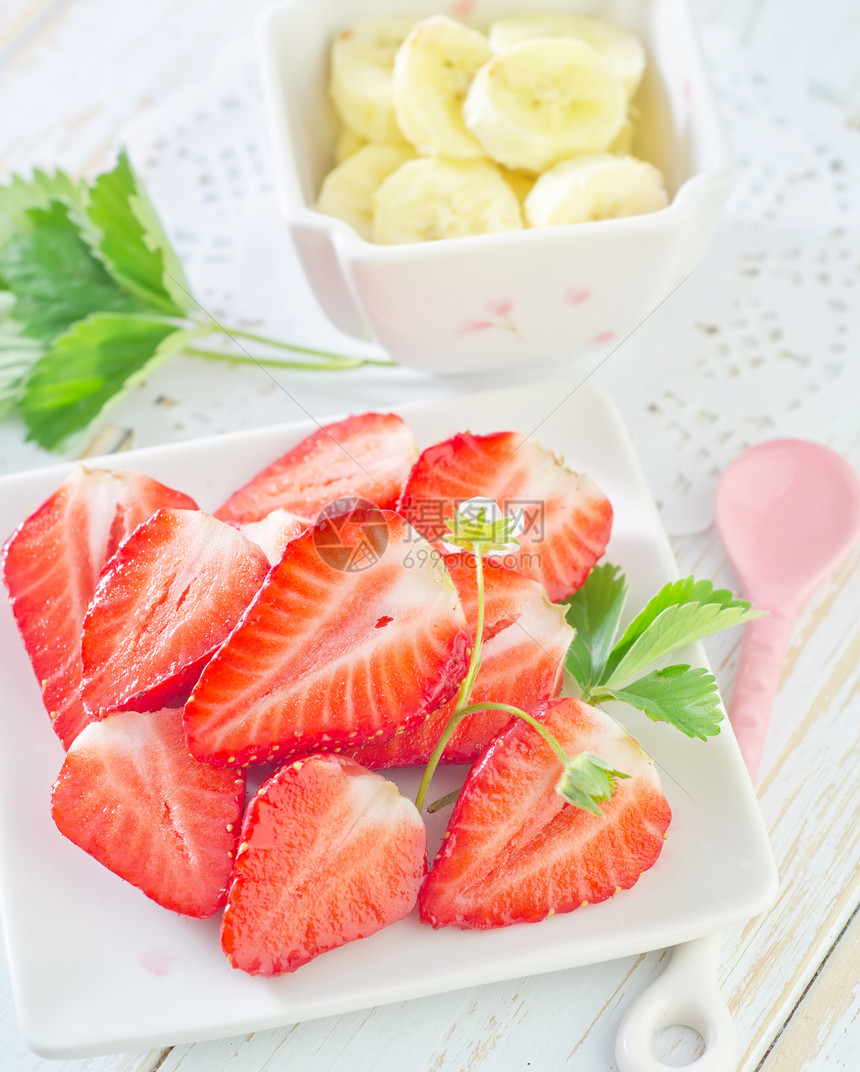
[[412,911],[427,834],[397,786],[343,756],[282,766],[248,806],[221,926],[234,968],[277,976]]

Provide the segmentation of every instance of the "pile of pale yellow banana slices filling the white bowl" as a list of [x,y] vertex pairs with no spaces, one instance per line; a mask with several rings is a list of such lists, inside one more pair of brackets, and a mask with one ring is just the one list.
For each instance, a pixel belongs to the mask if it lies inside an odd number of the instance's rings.
[[[381,244],[662,208],[662,177],[631,157],[644,59],[629,30],[566,12],[507,16],[486,34],[447,15],[359,19],[331,48],[343,128],[315,207]],[[442,166],[400,174],[415,154]]]

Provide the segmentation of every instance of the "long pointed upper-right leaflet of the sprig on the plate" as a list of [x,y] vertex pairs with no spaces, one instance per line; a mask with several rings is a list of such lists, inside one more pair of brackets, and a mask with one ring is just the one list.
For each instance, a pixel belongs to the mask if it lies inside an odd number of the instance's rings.
[[600,684],[617,686],[679,647],[742,625],[760,611],[725,589],[687,577],[666,584],[624,630],[612,649]]

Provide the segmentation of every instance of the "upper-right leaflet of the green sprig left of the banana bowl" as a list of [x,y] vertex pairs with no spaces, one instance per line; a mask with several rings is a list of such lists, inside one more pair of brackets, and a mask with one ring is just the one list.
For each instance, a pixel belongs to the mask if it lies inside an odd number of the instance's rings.
[[172,316],[193,304],[179,259],[123,150],[90,188],[93,252],[119,286]]

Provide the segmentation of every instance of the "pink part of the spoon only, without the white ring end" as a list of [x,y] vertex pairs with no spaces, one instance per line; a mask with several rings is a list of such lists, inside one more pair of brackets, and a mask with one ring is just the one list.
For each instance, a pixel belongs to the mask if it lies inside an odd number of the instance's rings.
[[744,628],[729,704],[755,784],[791,626],[860,538],[860,480],[829,447],[772,440],[726,468],[715,508],[744,598],[768,611]]

